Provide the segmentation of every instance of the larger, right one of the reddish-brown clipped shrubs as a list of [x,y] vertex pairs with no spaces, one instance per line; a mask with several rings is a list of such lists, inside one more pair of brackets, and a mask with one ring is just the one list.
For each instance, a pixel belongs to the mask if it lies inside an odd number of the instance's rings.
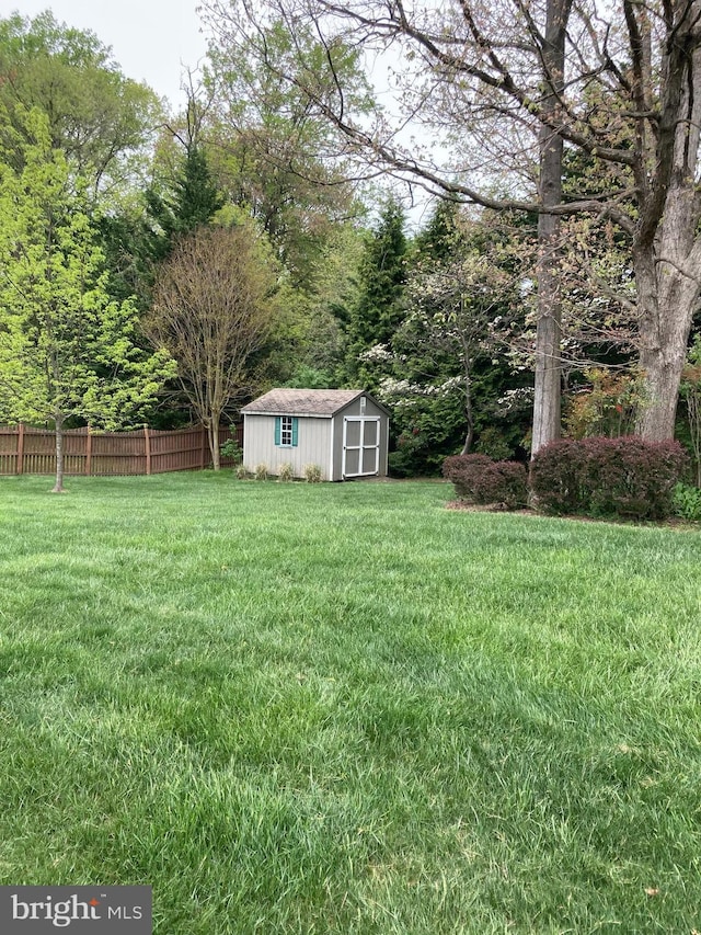
[[531,491],[545,512],[664,520],[688,466],[678,442],[561,440],[533,458]]

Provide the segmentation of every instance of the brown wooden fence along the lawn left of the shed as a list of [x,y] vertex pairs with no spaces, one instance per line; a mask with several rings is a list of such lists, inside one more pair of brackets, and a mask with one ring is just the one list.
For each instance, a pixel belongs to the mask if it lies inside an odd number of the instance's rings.
[[[243,444],[243,426],[222,426],[221,443],[235,437]],[[171,470],[198,470],[211,464],[207,430],[159,432],[93,432],[71,429],[64,434],[67,475],[150,475]],[[230,460],[222,458],[222,465]],[[0,475],[56,472],[56,436],[46,429],[0,425]]]

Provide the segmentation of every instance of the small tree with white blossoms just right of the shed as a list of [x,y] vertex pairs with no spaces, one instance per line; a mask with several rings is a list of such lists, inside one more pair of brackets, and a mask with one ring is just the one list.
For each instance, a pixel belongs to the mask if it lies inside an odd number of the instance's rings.
[[392,368],[378,392],[402,429],[395,468],[424,454],[425,467],[435,467],[456,449],[458,435],[462,454],[471,452],[510,381],[503,351],[520,306],[519,261],[494,220],[475,223],[438,205],[411,259],[405,318],[389,347],[364,355],[386,373]]

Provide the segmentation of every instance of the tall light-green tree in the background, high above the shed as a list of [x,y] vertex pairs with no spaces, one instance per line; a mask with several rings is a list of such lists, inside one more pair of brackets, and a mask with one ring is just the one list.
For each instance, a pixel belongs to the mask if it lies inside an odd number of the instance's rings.
[[338,44],[330,57],[303,24],[290,35],[284,22],[262,18],[246,30],[234,4],[217,16],[203,12],[212,32],[207,88],[215,106],[203,130],[212,171],[229,198],[262,225],[292,285],[306,289],[336,224],[361,215],[363,206],[347,181],[336,130],[284,75],[261,68],[252,52],[260,38],[271,64],[294,68],[297,49],[303,48],[320,93],[332,93],[343,81],[354,106],[367,112],[360,53]]

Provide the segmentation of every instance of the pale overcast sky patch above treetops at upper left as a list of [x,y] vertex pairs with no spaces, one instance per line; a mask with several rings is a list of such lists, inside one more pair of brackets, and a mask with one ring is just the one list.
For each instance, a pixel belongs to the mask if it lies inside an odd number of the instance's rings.
[[146,81],[174,106],[185,102],[180,91],[183,66],[195,69],[206,43],[195,7],[199,0],[0,0],[0,15],[35,16],[51,10],[68,26],[91,30],[112,46],[127,78]]

